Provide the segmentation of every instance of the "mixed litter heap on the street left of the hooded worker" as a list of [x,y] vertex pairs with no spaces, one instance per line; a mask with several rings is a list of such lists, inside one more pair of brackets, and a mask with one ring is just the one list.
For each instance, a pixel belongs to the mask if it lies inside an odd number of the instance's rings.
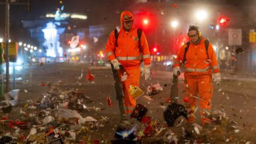
[[[87,143],[91,141],[88,134],[108,119],[83,118],[78,112],[102,109],[87,107],[92,100],[79,90],[53,88],[38,101],[25,103],[18,103],[18,92],[5,94],[1,102],[0,143]],[[11,116],[11,111],[17,113]]]

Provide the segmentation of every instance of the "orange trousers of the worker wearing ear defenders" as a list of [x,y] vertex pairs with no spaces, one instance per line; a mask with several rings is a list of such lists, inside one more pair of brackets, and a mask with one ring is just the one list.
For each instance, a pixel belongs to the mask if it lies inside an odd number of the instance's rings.
[[[200,101],[200,115],[202,125],[210,123],[210,119],[205,117],[205,112],[211,110],[211,97],[213,96],[213,84],[211,75],[189,76],[186,75],[185,91],[188,103],[185,103],[188,110],[189,120],[193,122],[194,109],[199,98]],[[198,98],[194,98],[198,97]]]

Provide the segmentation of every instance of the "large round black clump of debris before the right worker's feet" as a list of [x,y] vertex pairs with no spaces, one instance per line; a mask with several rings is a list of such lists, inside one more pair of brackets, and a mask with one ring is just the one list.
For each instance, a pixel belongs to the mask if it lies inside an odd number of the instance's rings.
[[177,120],[177,118],[180,116],[188,118],[188,112],[186,111],[184,105],[178,103],[171,103],[163,112],[163,118],[167,122],[167,125],[171,127],[174,125],[175,120]]

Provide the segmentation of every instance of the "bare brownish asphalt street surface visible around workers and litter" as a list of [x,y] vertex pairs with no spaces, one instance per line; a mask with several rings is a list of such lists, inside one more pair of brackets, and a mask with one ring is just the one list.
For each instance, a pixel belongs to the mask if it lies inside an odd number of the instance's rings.
[[[75,77],[81,75],[83,69],[83,79],[78,80]],[[95,75],[94,82],[88,82],[85,79],[87,70]],[[141,77],[140,88],[146,92],[147,86],[150,84],[160,83],[163,86],[163,92],[154,95],[152,99],[145,96],[137,99],[137,103],[141,103],[148,108],[148,115],[153,119],[157,119],[161,123],[163,120],[163,107],[167,106],[165,102],[169,96],[171,89],[171,71],[166,71],[162,65],[154,65],[152,67],[152,75],[150,81],[144,81]],[[20,99],[37,100],[41,98],[43,92],[47,92],[48,87],[43,86],[51,82],[60,88],[79,89],[86,96],[93,100],[87,106],[100,107],[102,111],[86,112],[81,114],[83,117],[91,116],[94,118],[107,117],[108,122],[104,127],[99,128],[91,133],[92,139],[112,139],[115,134],[116,126],[120,121],[119,109],[114,95],[114,81],[110,67],[89,67],[86,63],[45,63],[42,66],[33,65],[32,71],[24,69],[22,73],[18,73],[16,77],[22,77],[22,82],[16,84],[16,88],[21,90]],[[225,75],[225,77],[231,77]],[[182,103],[182,76],[179,79],[179,97]],[[12,85],[10,85],[11,87]],[[213,107],[212,109],[224,109],[226,115],[238,124],[244,126],[256,125],[256,84],[254,81],[240,81],[239,79],[226,79],[220,85],[214,86]],[[254,95],[253,95],[254,94]],[[110,96],[114,104],[113,107],[108,107],[106,98]],[[199,116],[198,116],[199,117]],[[199,118],[198,118],[199,119]],[[199,122],[199,120],[198,120]]]

